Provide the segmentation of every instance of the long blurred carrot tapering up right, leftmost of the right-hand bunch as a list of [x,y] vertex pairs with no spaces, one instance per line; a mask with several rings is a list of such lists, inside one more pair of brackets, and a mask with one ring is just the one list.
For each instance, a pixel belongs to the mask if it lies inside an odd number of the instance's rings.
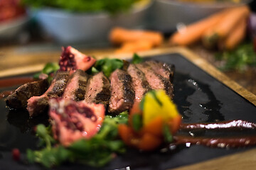
[[223,17],[225,13],[229,10],[220,11],[218,13],[209,16],[208,18],[204,18],[201,21],[196,23],[192,23],[191,25],[178,30],[178,32],[174,33],[169,39],[171,45],[191,45],[192,43],[200,40],[203,33],[210,27],[214,26],[220,19]]

